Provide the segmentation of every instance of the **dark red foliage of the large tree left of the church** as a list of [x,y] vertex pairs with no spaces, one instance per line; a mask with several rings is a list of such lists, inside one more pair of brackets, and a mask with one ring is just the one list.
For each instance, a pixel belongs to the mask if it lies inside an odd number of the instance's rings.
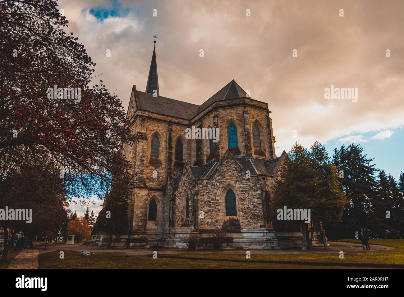
[[0,0],[0,174],[51,162],[67,197],[83,201],[130,180],[118,151],[138,136],[121,100],[90,86],[95,64],[67,27],[55,0]]

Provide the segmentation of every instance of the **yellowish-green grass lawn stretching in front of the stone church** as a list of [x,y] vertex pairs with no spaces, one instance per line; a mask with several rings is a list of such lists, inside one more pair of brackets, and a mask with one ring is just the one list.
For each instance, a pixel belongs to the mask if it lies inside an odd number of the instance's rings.
[[[344,240],[358,242],[355,240]],[[332,245],[332,243],[330,243]],[[179,251],[175,254],[159,253],[151,256],[93,253],[80,256],[76,251],[65,251],[65,259],[59,259],[59,251],[42,253],[40,269],[341,269],[343,268],[404,268],[404,239],[371,240],[370,244],[396,247],[389,251],[349,252],[344,259],[339,253],[303,254],[254,254],[246,259],[240,253],[198,253]],[[318,264],[318,265],[316,265]]]

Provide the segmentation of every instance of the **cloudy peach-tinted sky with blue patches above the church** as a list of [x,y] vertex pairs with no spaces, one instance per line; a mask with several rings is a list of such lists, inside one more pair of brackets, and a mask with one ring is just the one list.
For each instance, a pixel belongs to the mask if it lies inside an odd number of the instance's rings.
[[[200,105],[234,79],[268,103],[278,155],[295,141],[319,140],[328,151],[355,142],[378,168],[396,178],[404,170],[404,1],[62,0],[59,8],[125,108],[133,85],[145,90],[156,34],[160,95]],[[357,102],[324,98],[332,85],[358,88]]]

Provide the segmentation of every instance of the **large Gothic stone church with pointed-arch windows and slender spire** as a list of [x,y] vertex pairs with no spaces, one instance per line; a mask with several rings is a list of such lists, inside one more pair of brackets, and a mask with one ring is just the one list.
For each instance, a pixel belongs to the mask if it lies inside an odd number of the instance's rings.
[[[299,228],[270,215],[286,153],[275,154],[267,103],[250,98],[234,80],[202,105],[160,96],[154,43],[146,90],[133,86],[130,95],[127,117],[141,140],[124,144],[122,153],[133,164],[136,188],[128,199],[129,231],[114,236],[113,244],[186,247],[184,238],[195,233],[208,248],[209,234],[221,229],[223,247],[301,245]],[[187,139],[187,128],[218,129],[219,137]]]

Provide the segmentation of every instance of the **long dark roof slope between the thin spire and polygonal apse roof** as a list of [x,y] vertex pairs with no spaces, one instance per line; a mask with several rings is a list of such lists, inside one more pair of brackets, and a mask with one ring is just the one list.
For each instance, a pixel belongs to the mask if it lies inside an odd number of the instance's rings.
[[174,100],[162,96],[153,97],[153,94],[136,91],[137,109],[179,117],[181,119],[191,119],[196,115],[199,105]]

